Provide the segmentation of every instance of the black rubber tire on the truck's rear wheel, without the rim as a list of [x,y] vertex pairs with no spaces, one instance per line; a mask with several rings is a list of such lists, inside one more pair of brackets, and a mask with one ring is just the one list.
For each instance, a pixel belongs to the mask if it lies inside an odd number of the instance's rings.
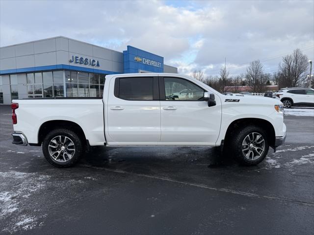
[[[66,159],[68,157],[68,155],[65,155],[66,158],[64,162],[61,162],[61,159],[57,159],[55,160],[50,152],[49,152],[49,144],[51,143],[51,141],[58,137],[58,136],[63,136],[63,137],[67,137],[70,139],[70,141],[72,141],[74,143],[74,154],[72,155],[71,159]],[[65,141],[64,141],[65,142]],[[66,142],[65,142],[66,143]],[[58,144],[58,143],[57,143]],[[56,145],[58,146],[58,145]],[[60,145],[59,145],[60,146]],[[67,145],[65,145],[67,146]],[[73,146],[73,145],[72,145]],[[83,155],[83,151],[84,151],[84,145],[82,140],[79,138],[78,134],[76,134],[74,131],[72,130],[68,130],[68,129],[55,129],[52,130],[44,139],[43,144],[42,144],[42,149],[43,149],[43,153],[44,156],[46,158],[46,160],[52,164],[53,166],[56,167],[70,167],[73,166],[74,164],[76,164],[78,162],[78,160],[81,158],[81,156]],[[55,148],[55,150],[58,150]],[[67,149],[65,149],[66,152]],[[71,151],[70,149],[68,150]],[[65,153],[66,154],[66,153]],[[64,155],[63,155],[64,156]],[[68,157],[69,158],[69,157]]]

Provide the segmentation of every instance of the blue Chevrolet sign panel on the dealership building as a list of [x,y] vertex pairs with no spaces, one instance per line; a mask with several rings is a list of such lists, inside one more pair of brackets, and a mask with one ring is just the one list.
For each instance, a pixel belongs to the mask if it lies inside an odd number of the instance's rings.
[[128,46],[123,51],[124,73],[163,72],[163,57]]

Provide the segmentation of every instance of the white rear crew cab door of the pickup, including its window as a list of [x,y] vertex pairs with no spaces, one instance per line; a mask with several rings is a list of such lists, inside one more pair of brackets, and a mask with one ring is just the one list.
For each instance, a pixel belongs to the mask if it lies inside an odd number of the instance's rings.
[[110,81],[107,142],[151,145],[160,141],[158,77],[116,77]]

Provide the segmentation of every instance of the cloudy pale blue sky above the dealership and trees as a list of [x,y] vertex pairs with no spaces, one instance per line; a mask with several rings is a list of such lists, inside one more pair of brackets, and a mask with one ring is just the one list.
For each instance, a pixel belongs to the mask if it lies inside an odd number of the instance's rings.
[[0,0],[0,46],[65,36],[118,51],[156,53],[189,73],[231,74],[260,59],[265,72],[302,49],[314,59],[314,0]]

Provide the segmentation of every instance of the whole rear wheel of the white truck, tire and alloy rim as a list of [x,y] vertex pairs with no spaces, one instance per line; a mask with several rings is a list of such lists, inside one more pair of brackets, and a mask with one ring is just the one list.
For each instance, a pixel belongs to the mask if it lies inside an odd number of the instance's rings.
[[43,141],[42,149],[46,160],[57,167],[76,164],[83,153],[81,139],[68,129],[50,132]]

